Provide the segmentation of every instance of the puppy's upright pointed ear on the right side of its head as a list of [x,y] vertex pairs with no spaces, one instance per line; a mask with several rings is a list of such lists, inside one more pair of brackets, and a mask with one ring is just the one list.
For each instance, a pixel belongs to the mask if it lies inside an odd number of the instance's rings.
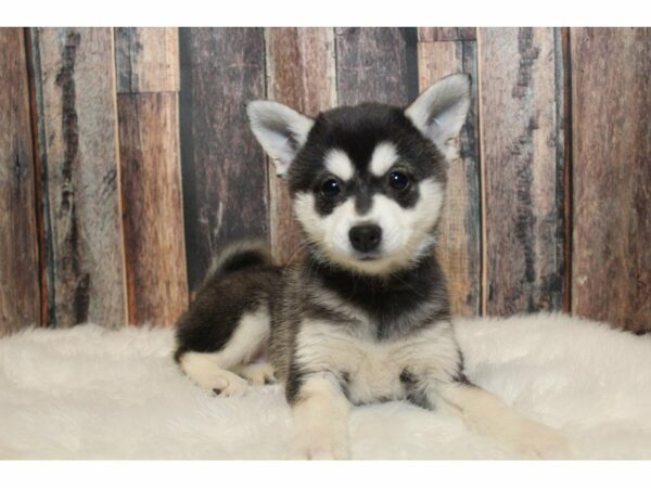
[[448,141],[459,136],[469,107],[470,76],[458,74],[427,88],[407,107],[405,115],[451,160],[456,150]]

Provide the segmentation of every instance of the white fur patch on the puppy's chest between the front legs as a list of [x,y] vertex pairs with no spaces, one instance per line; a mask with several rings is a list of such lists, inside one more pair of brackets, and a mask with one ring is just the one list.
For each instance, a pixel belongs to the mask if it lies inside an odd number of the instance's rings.
[[332,371],[346,378],[355,403],[405,398],[405,370],[430,381],[456,374],[459,352],[449,323],[387,341],[378,341],[371,330],[306,321],[296,341],[296,361],[307,371]]

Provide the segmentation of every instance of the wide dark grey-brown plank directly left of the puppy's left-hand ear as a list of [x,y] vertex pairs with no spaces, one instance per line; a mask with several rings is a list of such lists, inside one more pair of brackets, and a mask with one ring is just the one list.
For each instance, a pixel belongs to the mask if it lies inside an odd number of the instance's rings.
[[267,165],[246,102],[265,98],[261,28],[182,28],[181,156],[190,287],[227,242],[268,240]]

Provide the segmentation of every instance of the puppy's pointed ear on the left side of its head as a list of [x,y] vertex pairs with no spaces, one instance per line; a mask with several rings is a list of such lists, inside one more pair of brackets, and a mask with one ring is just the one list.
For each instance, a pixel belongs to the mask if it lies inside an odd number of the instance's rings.
[[281,103],[256,100],[246,106],[251,129],[283,177],[307,141],[315,121]]

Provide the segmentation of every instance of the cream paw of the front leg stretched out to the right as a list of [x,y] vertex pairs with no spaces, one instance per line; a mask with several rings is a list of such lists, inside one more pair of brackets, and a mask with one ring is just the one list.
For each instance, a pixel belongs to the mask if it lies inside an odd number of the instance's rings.
[[510,436],[513,447],[528,459],[572,459],[567,440],[556,428],[524,421]]

